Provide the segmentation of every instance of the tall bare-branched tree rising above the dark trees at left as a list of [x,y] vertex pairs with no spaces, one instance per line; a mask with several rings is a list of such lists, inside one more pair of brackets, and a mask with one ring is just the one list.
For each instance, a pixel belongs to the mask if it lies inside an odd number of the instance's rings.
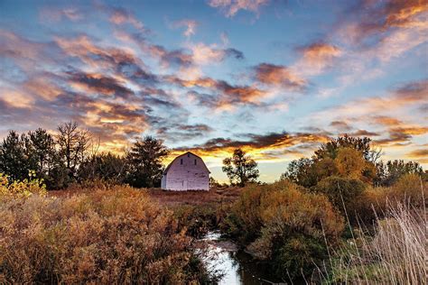
[[88,156],[90,133],[80,129],[76,122],[60,124],[58,126],[57,143],[61,161],[64,161],[70,177],[76,176],[79,165]]

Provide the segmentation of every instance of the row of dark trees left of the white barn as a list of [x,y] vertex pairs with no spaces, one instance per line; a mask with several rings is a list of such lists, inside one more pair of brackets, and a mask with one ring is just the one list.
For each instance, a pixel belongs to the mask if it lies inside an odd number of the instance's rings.
[[76,122],[60,124],[56,133],[42,128],[21,134],[10,131],[0,143],[0,172],[23,180],[32,170],[48,189],[94,179],[137,188],[160,185],[162,161],[170,153],[162,140],[136,139],[124,155],[98,152],[98,146],[88,129]]

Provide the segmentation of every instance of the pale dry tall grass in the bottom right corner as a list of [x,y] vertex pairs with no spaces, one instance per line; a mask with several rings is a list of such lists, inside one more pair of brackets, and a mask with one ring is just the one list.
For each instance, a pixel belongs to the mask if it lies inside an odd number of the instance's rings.
[[426,284],[426,212],[408,203],[389,204],[376,234],[359,234],[330,260],[325,283]]

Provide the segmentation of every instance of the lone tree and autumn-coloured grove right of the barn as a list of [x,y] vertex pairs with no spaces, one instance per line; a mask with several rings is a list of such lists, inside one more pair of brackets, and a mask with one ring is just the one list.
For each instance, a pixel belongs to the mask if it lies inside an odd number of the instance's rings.
[[[289,179],[305,188],[312,188],[322,179],[334,176],[360,179],[373,186],[389,187],[405,174],[428,176],[415,161],[381,161],[382,151],[373,148],[368,137],[347,134],[321,144],[311,158],[291,161],[280,179]],[[257,163],[241,149],[223,161],[222,170],[231,185],[259,183]]]

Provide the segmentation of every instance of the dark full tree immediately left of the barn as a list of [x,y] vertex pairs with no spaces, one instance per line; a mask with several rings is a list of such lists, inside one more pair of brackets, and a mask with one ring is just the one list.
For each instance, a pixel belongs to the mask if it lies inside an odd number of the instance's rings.
[[163,174],[162,161],[169,153],[162,140],[152,136],[137,140],[126,155],[128,183],[140,188],[159,187]]

